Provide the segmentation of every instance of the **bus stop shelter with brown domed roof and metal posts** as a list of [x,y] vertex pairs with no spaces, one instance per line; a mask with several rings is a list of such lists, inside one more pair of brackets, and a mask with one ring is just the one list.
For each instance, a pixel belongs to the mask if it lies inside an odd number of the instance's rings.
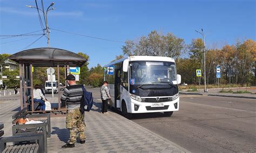
[[[9,59],[19,64],[21,109],[27,108],[29,113],[42,112],[34,109],[32,67],[57,67],[58,91],[60,91],[59,68],[64,67],[66,78],[69,74],[69,67],[80,67],[87,61],[76,53],[49,47],[17,52],[11,55]],[[58,106],[52,107],[51,112],[63,112],[65,110],[66,107],[62,107],[60,92],[58,92]]]

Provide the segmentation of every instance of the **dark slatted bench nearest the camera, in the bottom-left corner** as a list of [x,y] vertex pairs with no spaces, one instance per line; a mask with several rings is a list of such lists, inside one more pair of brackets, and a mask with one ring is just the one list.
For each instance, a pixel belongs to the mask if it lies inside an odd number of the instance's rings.
[[[44,149],[43,134],[2,137],[4,135],[3,128],[4,124],[0,123],[0,152],[47,152]],[[35,143],[31,143],[31,141]],[[8,142],[19,142],[19,145],[7,146]]]

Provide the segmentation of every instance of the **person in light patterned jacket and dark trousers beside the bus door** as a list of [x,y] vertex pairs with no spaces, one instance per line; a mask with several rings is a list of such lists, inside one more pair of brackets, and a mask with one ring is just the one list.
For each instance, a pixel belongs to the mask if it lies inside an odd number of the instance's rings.
[[107,112],[107,101],[111,99],[109,88],[107,87],[109,83],[107,81],[103,82],[102,87],[100,87],[100,98],[102,99],[102,112],[100,113],[108,113]]

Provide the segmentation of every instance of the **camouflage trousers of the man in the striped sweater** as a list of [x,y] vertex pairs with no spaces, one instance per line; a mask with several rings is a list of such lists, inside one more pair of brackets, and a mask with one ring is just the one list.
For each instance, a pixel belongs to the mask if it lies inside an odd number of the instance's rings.
[[69,129],[69,144],[74,144],[77,141],[77,132],[80,140],[85,140],[84,115],[80,112],[79,108],[67,110],[66,128]]

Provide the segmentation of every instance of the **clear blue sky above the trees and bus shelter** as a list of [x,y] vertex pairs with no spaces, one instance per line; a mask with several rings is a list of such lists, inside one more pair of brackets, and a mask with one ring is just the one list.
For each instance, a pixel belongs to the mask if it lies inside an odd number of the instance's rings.
[[[41,8],[41,1],[37,0]],[[44,0],[46,9],[51,2],[55,10],[48,13],[49,27],[87,36],[125,41],[146,36],[152,30],[172,32],[186,44],[200,37],[194,30],[210,32],[208,47],[234,44],[238,39],[255,40],[256,3],[253,0],[222,1],[68,1]],[[41,30],[35,1],[0,0],[1,35],[23,34]],[[42,33],[42,32],[37,32]],[[32,37],[32,36],[31,36]],[[4,37],[1,37],[4,38]],[[35,41],[38,36],[0,38],[1,53],[16,53]],[[25,40],[20,40],[28,38]],[[20,40],[20,41],[16,41]],[[14,41],[12,43],[8,43]],[[105,65],[122,54],[122,43],[76,36],[51,30],[50,46],[90,56],[89,67]],[[27,48],[46,47],[42,37]]]

